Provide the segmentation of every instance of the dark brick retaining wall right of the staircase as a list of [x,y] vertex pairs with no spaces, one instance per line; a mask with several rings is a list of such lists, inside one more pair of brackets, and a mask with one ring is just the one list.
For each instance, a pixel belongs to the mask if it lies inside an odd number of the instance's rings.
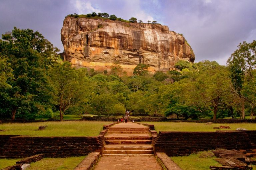
[[256,148],[253,143],[255,142],[255,136],[255,131],[160,131],[152,143],[154,144],[154,152],[165,152],[168,156],[189,155],[194,152],[216,148],[236,149],[246,152]]

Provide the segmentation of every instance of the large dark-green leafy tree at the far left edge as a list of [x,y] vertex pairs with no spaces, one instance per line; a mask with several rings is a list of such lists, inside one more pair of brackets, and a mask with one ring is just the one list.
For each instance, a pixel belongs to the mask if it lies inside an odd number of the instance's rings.
[[[33,115],[49,105],[46,93],[45,72],[57,59],[56,47],[33,30],[14,27],[11,33],[2,35],[0,41],[1,67],[5,75],[5,87],[0,89],[0,112],[12,119],[33,118]],[[1,74],[3,75],[3,74]]]

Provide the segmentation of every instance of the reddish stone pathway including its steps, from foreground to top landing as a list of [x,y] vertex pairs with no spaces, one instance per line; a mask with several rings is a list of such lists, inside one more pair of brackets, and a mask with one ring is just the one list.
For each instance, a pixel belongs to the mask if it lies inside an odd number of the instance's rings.
[[103,156],[94,170],[162,170],[153,154],[149,130],[132,122],[108,128]]

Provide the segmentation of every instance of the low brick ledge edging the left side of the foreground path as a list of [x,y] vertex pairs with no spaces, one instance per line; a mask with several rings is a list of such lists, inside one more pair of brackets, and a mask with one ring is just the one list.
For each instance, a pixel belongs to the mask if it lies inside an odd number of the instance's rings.
[[92,170],[100,157],[100,152],[91,152],[75,167],[74,170]]

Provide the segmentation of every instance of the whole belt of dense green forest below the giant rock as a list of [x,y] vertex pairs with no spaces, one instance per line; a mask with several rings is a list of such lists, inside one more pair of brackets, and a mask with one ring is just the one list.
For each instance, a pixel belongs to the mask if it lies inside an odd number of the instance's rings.
[[39,32],[14,28],[0,40],[0,118],[61,119],[63,114],[170,116],[186,119],[250,116],[256,105],[256,41],[240,43],[227,61],[179,61],[176,70],[126,76],[71,67]]

